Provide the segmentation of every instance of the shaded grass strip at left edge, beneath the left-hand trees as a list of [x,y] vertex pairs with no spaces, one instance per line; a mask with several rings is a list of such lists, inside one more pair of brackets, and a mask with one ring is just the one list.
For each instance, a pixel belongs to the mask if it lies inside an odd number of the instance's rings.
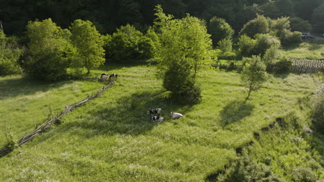
[[46,83],[45,81],[37,81],[28,77],[19,79],[3,79],[0,81],[0,100],[18,95],[34,94],[35,92],[46,92],[52,88],[59,88],[64,84],[72,81],[60,81],[55,83]]

